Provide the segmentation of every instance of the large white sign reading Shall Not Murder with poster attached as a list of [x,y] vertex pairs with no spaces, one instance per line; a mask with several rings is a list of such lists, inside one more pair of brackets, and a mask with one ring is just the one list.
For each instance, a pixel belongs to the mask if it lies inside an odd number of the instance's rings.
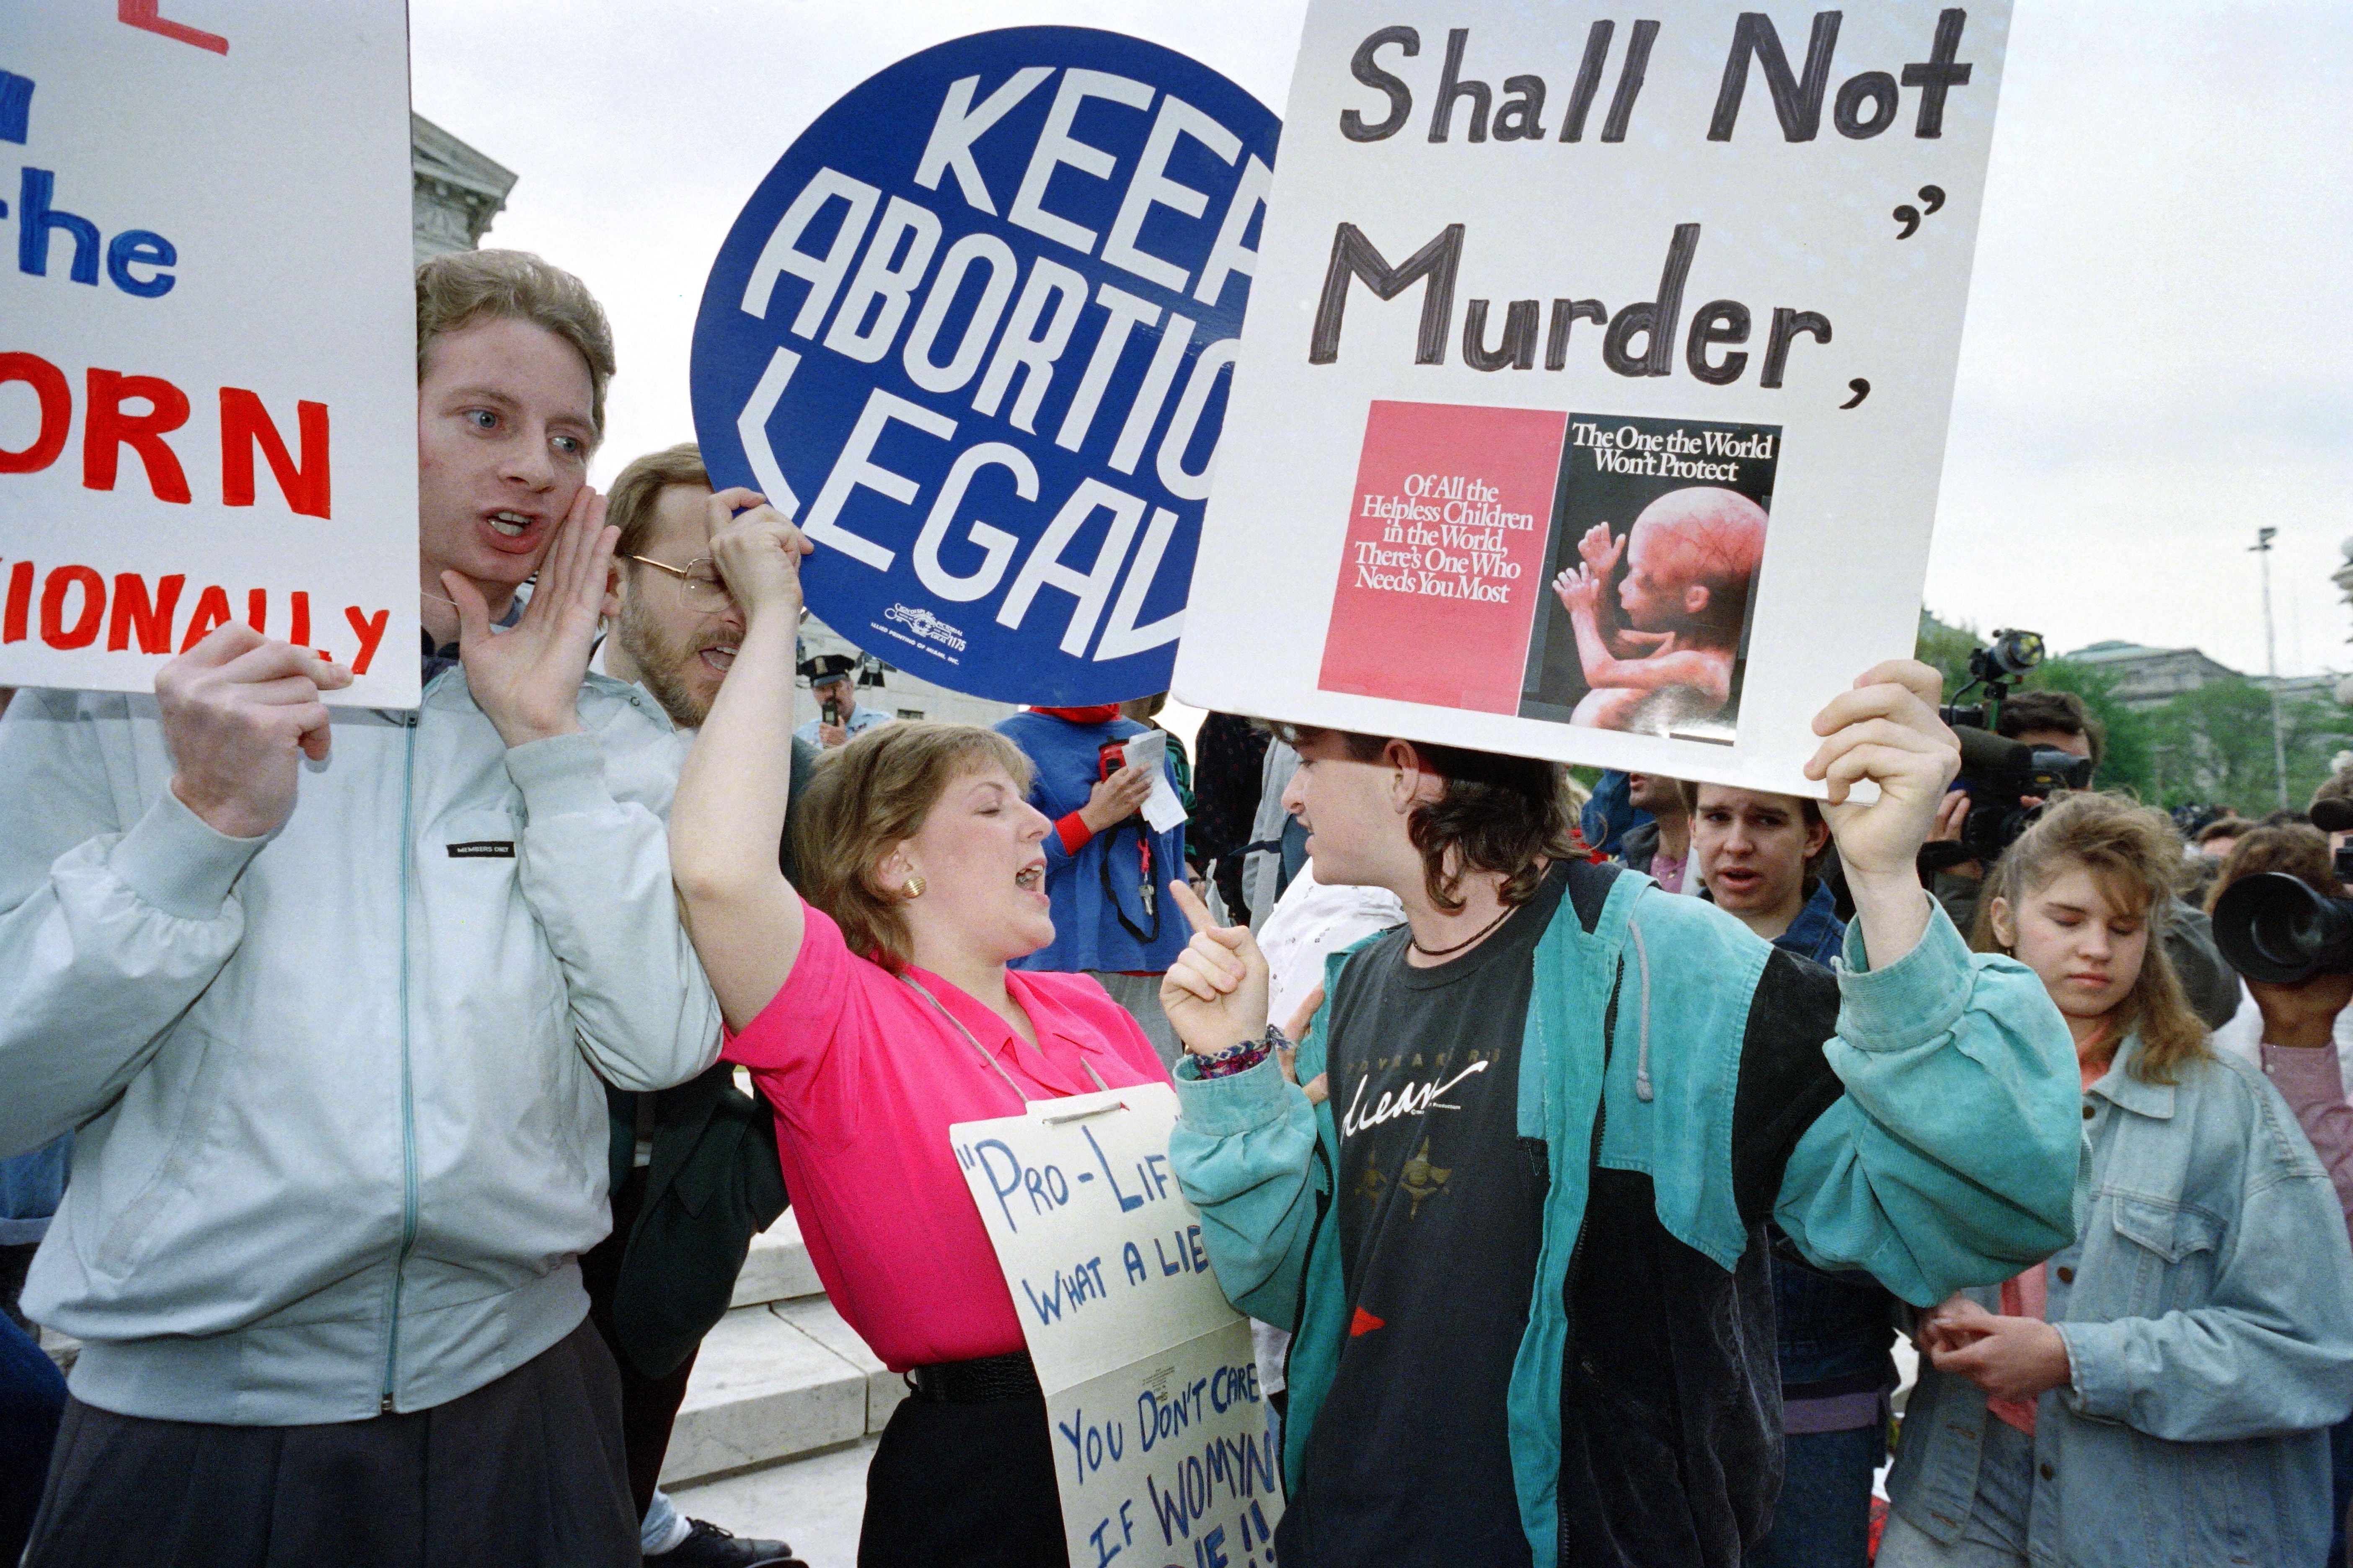
[[2007,21],[1315,0],[1176,693],[1819,795],[1913,646]]

